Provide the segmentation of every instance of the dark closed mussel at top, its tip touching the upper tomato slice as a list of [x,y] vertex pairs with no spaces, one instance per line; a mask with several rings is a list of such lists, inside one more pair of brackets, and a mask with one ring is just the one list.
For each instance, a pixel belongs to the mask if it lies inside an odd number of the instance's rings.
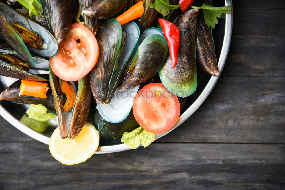
[[54,34],[57,43],[60,43],[67,34],[74,18],[75,0],[39,0],[50,31]]

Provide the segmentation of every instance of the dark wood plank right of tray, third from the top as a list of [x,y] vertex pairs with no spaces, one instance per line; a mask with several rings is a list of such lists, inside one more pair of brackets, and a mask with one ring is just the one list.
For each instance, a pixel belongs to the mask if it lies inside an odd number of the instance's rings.
[[220,77],[201,107],[158,141],[285,143],[284,89],[284,77]]

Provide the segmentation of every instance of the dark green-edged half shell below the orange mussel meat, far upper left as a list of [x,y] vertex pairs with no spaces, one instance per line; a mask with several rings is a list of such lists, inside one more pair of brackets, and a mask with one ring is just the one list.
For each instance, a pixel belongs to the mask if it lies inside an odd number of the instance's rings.
[[[0,2],[0,6],[2,3]],[[15,32],[13,27],[9,24],[9,21],[0,11],[0,34],[5,41],[18,52],[28,63],[34,66],[32,55],[30,54],[23,39]]]

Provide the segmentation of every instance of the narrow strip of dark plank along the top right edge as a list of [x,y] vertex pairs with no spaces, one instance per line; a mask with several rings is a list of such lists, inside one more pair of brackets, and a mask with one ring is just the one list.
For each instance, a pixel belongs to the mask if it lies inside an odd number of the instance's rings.
[[285,1],[233,0],[234,9],[285,9]]

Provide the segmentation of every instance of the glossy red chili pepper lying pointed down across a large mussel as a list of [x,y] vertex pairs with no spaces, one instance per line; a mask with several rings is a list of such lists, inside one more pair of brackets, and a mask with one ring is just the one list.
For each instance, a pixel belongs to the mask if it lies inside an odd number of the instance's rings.
[[180,30],[174,24],[164,19],[158,19],[158,22],[168,43],[171,68],[174,68],[177,64],[177,55],[180,44]]

